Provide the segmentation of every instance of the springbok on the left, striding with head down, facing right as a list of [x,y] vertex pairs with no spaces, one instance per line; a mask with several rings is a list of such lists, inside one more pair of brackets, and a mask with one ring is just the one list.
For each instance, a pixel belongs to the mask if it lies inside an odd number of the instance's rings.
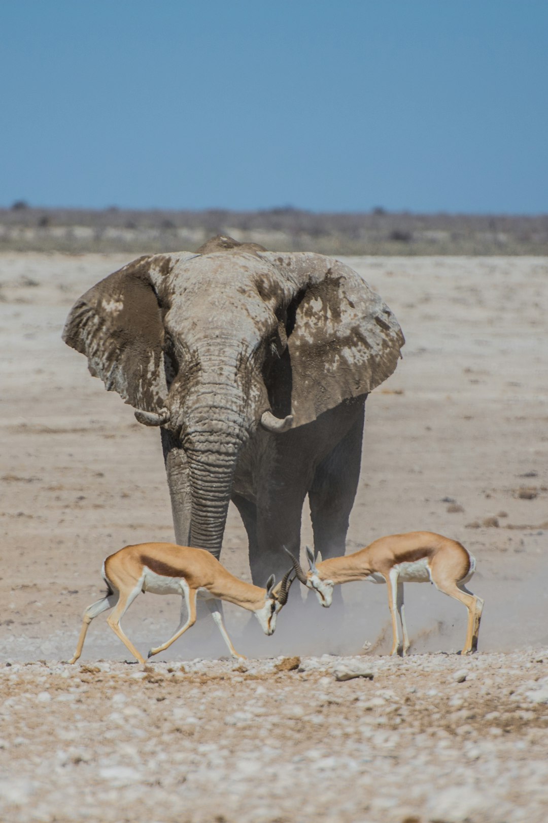
[[149,657],[168,649],[196,623],[196,598],[199,597],[207,602],[232,656],[245,659],[242,654],[237,653],[228,637],[218,601],[226,600],[247,611],[253,611],[265,635],[273,635],[276,616],[288,600],[289,588],[294,579],[289,579],[291,572],[290,569],[277,586],[274,586],[274,574],[271,574],[266,588],[260,588],[234,577],[205,549],[176,546],[174,543],[140,543],[137,546],[126,546],[104,561],[103,579],[108,586],[107,595],[85,610],[76,652],[69,662],[76,663],[80,657],[88,626],[94,617],[115,606],[113,613],[108,616],[108,625],[139,663],[145,663],[131,640],[124,635],[120,625],[122,616],[141,592],[180,594],[183,597],[181,621],[177,631],[161,646],[150,649]]

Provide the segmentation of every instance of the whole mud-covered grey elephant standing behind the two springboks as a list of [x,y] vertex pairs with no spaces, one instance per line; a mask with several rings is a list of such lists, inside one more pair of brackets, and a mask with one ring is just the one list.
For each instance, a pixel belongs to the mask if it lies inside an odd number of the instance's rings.
[[63,339],[159,426],[179,545],[219,558],[233,500],[262,585],[299,551],[308,495],[316,553],[344,554],[366,397],[404,342],[352,268],[218,235],[100,281]]

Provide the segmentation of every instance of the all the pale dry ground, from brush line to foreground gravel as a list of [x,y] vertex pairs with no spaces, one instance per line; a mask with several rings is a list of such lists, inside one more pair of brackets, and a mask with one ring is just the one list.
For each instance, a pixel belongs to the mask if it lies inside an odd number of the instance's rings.
[[[481,653],[446,654],[463,607],[409,585],[416,656],[378,657],[385,588],[350,584],[337,636],[315,602],[298,623],[288,607],[273,638],[227,609],[237,648],[262,658],[246,672],[215,660],[220,640],[198,627],[142,672],[104,618],[84,668],[58,663],[104,556],[173,539],[158,433],[60,339],[73,300],[126,262],[0,255],[0,820],[544,821],[548,260],[348,258],[408,341],[367,401],[348,549],[412,529],[463,542],[486,600]],[[247,577],[243,545],[231,510],[223,562]],[[148,649],[177,617],[172,598],[140,597],[124,626]],[[364,640],[373,681],[339,683],[339,658],[310,657]],[[276,673],[265,658],[282,653],[303,671]],[[180,671],[198,656],[212,659]]]

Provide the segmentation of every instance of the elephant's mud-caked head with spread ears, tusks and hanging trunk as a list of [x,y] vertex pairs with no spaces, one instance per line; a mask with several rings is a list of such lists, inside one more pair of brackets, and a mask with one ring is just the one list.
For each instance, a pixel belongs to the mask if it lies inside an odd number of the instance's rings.
[[348,266],[227,237],[114,272],[76,302],[63,337],[137,420],[181,445],[191,545],[213,550],[246,439],[283,437],[370,392],[403,345],[394,315]]

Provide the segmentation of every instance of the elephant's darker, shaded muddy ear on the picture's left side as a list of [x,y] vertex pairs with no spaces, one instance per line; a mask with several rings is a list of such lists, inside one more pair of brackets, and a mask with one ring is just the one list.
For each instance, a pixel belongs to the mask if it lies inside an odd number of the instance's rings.
[[158,412],[167,395],[158,286],[181,257],[139,258],[105,277],[76,300],[62,334],[108,391],[146,412]]

